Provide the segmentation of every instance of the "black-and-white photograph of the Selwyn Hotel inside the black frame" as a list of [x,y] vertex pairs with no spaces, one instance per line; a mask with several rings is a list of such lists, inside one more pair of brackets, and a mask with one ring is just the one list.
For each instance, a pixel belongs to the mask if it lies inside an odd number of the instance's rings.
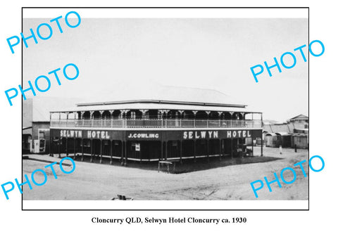
[[[308,159],[308,61],[274,63],[308,42],[301,10],[298,18],[63,11],[63,33],[23,52],[24,79],[48,89],[25,92],[23,174],[64,157],[76,170],[55,167],[58,179],[23,186],[23,200],[308,200],[308,177],[293,182],[302,174],[294,164]],[[41,22],[49,19],[23,18],[23,28],[48,37]],[[256,82],[250,67],[264,61]]]

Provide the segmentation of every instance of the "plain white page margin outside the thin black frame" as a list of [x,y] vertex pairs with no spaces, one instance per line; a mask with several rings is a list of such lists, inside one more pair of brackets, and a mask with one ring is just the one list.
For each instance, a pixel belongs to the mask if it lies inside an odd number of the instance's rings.
[[[56,4],[56,3],[55,3]],[[274,6],[271,1],[58,1],[51,6]],[[310,58],[310,155],[321,155],[325,169],[310,176],[310,211],[275,212],[22,212],[21,195],[11,192],[11,199],[0,197],[1,238],[60,238],[60,237],[126,237],[126,238],[172,238],[189,236],[205,238],[211,236],[236,238],[285,238],[322,237],[335,235],[335,215],[337,213],[335,169],[335,119],[337,119],[336,72],[337,9],[329,1],[283,1],[275,6],[309,6],[310,40],[320,39],[325,44],[325,53],[320,58]],[[22,6],[49,6],[46,1],[15,1],[1,3],[1,167],[0,183],[20,179],[21,175],[21,108],[10,107],[4,91],[21,82],[21,53],[11,54],[6,39],[21,31]],[[273,78],[271,78],[273,80]],[[331,123],[333,122],[333,124]],[[16,189],[15,189],[16,190]],[[180,204],[180,201],[176,202]],[[211,204],[213,202],[210,202]],[[92,217],[206,217],[231,218],[246,217],[246,224],[142,224],[115,225],[92,224]]]

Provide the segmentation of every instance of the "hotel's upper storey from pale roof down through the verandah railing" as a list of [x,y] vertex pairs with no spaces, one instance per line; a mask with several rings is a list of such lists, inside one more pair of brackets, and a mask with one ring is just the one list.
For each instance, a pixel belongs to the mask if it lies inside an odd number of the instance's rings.
[[[134,100],[128,96],[127,100],[112,101],[111,96],[106,101],[96,98],[96,103],[79,103],[72,109],[51,112],[51,122],[53,126],[78,127],[162,127],[174,124],[180,127],[253,127],[253,124],[261,127],[261,112],[248,109],[245,104],[238,103],[219,91],[187,90],[171,86],[162,89],[167,90],[162,96],[149,93],[146,100],[139,100],[142,96],[133,96],[136,98]],[[185,95],[182,97],[181,93]]]

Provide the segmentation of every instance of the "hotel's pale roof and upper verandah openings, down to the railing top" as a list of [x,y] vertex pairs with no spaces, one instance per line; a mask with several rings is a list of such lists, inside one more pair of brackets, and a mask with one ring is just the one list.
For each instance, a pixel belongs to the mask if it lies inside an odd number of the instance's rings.
[[[95,96],[94,103],[78,103],[68,110],[51,112],[51,119],[78,120],[246,120],[261,112],[246,108],[233,97],[211,89],[150,85],[138,93],[126,93],[119,101],[115,96]],[[142,100],[142,98],[145,100]]]

